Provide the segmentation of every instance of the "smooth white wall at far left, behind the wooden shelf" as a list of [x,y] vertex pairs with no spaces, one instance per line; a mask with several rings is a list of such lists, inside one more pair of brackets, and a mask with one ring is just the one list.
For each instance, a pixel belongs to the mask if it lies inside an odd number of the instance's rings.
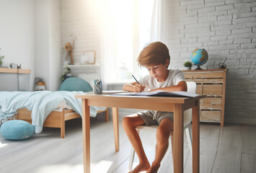
[[[21,90],[32,88],[34,78],[34,2],[32,0],[0,1],[0,54],[5,66],[22,64],[32,74],[20,75]],[[12,82],[12,84],[11,84]],[[17,74],[0,74],[0,90],[17,90]]]

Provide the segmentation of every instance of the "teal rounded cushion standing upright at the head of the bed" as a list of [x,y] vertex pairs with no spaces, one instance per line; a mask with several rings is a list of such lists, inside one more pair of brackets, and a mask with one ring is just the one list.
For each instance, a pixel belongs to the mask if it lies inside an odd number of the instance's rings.
[[61,83],[59,90],[68,92],[92,92],[92,87],[83,79],[70,77]]

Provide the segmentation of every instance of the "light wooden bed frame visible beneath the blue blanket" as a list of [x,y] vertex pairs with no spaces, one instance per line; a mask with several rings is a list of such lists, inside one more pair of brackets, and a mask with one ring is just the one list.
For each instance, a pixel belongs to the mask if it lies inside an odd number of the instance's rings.
[[[17,110],[17,114],[15,114],[15,118],[17,120],[25,120],[28,123],[32,123],[31,112],[27,110],[27,108]],[[97,113],[106,112],[105,113],[105,121],[108,121],[108,107],[106,110],[97,111]],[[65,121],[72,120],[75,118],[81,117],[79,114],[74,112],[74,110],[66,110],[63,109],[61,112],[52,111],[45,119],[45,123],[43,123],[43,127],[48,128],[61,128],[61,138],[65,138]]]

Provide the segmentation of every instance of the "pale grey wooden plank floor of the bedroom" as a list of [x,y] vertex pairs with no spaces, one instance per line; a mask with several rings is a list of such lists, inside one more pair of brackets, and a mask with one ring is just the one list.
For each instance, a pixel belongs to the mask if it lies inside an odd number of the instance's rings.
[[[115,152],[112,122],[91,121],[92,172],[127,172],[131,144],[120,123],[120,151]],[[154,159],[154,133],[141,132],[146,155]],[[7,141],[0,136],[1,173],[83,172],[81,119],[66,122],[66,138],[56,128],[25,141]],[[135,159],[135,164],[138,159]],[[184,172],[192,172],[187,141],[184,145]],[[159,172],[173,172],[171,148]],[[256,125],[200,125],[200,172],[256,172]]]

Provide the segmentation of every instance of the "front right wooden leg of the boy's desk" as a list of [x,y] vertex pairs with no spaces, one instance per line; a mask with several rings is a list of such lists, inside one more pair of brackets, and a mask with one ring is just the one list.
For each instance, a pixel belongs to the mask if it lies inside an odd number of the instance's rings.
[[184,111],[183,105],[175,104],[174,105],[174,169],[175,173],[183,172],[183,122],[184,119]]

